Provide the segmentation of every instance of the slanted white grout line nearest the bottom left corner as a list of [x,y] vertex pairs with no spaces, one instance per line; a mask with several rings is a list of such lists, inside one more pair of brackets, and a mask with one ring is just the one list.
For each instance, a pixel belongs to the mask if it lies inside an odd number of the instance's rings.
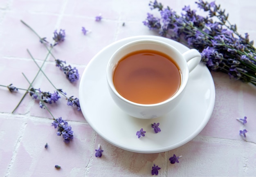
[[13,148],[13,155],[12,155],[12,157],[11,157],[11,161],[10,161],[10,164],[9,164],[9,166],[8,166],[8,168],[7,168],[7,172],[6,172],[6,174],[5,174],[5,177],[8,177],[8,176],[10,175],[10,173],[11,173],[11,170],[12,170],[12,168],[13,168],[13,163],[14,163],[14,161],[16,160],[16,156],[17,156],[17,153],[18,153],[18,148],[20,147],[20,143],[21,143],[21,141],[22,141],[23,134],[25,133],[26,127],[27,127],[27,122],[24,123],[23,126],[22,126],[22,128],[20,129],[20,132],[19,132],[20,137],[18,137],[18,139],[17,139],[17,141],[16,141],[16,144],[15,144],[15,146],[14,146],[14,148]]

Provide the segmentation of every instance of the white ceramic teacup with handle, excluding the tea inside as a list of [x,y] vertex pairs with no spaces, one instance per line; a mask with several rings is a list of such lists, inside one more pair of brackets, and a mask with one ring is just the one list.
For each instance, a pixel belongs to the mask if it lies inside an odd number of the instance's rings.
[[[181,83],[179,89],[174,96],[160,103],[139,104],[129,101],[121,96],[119,92],[117,92],[113,83],[113,73],[119,60],[131,52],[144,49],[155,50],[167,54],[173,58],[175,63],[180,68]],[[160,117],[167,114],[173,110],[176,105],[178,105],[188,83],[189,72],[191,72],[200,63],[200,60],[201,54],[196,49],[190,49],[181,54],[177,49],[175,49],[175,47],[162,41],[151,39],[132,41],[117,49],[117,51],[108,61],[106,76],[110,95],[119,108],[132,117],[137,117],[140,119],[152,119]]]

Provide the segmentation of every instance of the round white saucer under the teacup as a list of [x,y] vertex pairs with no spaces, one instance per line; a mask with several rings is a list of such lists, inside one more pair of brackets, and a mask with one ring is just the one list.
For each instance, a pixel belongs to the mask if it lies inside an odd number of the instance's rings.
[[[135,36],[116,41],[102,49],[85,68],[79,85],[79,101],[86,121],[109,143],[132,152],[164,152],[182,146],[201,132],[213,112],[215,87],[209,70],[200,63],[190,73],[182,101],[166,116],[150,120],[128,116],[110,97],[106,66],[121,45],[144,38],[169,43],[181,53],[188,50],[174,40],[159,36]],[[151,128],[154,122],[160,123],[161,132],[155,133]],[[136,132],[141,128],[146,134],[138,139]]]

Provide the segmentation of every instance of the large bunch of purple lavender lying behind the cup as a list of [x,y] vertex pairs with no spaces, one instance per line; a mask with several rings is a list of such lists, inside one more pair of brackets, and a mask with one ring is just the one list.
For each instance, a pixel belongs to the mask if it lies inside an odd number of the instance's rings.
[[207,13],[200,16],[196,10],[185,6],[181,15],[162,3],[150,2],[150,9],[158,9],[160,18],[148,13],[144,25],[156,30],[161,36],[179,41],[198,49],[202,62],[212,71],[229,74],[246,83],[256,85],[256,49],[246,33],[238,33],[236,25],[228,21],[225,10],[215,2],[195,2]]

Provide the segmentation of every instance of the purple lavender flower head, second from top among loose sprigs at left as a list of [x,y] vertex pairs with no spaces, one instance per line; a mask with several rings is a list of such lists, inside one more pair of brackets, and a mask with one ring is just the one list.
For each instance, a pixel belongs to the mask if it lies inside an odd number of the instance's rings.
[[64,72],[70,82],[75,82],[79,80],[79,72],[76,67],[72,68],[70,65],[65,66],[66,62],[59,59],[56,59],[55,63],[56,66]]

